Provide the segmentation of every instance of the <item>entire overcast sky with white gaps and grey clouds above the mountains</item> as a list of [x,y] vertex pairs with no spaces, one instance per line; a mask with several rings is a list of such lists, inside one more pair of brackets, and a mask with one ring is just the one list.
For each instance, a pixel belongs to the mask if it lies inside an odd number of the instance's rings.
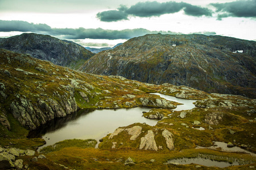
[[147,33],[256,40],[256,0],[0,0],[0,37],[42,33],[114,46]]

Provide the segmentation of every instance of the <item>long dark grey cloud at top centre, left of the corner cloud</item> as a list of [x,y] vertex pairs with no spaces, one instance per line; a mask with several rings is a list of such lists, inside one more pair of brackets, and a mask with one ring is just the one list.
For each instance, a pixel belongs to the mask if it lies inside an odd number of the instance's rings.
[[[131,6],[130,8],[126,6],[121,6],[118,10],[110,10],[99,12],[97,18],[103,22],[111,22],[127,19],[128,15],[139,16],[139,17],[151,17],[160,16],[163,14],[174,14],[184,9],[185,14],[192,16],[211,16],[212,11],[208,8],[203,8],[189,3],[184,2],[138,2],[137,4]],[[115,12],[113,12],[115,11]],[[118,14],[120,12],[120,14]],[[121,15],[122,14],[122,15]],[[125,15],[126,14],[126,15]],[[123,16],[118,18],[118,16]]]

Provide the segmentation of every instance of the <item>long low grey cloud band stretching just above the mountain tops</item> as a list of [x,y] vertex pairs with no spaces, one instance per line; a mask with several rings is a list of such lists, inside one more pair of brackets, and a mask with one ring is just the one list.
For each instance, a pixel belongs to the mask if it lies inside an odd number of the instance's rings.
[[[171,31],[149,31],[144,28],[137,29],[85,29],[85,28],[51,28],[47,24],[34,24],[19,20],[0,20],[0,32],[35,32],[43,33],[52,36],[61,37],[62,39],[131,39],[133,37],[143,36],[148,33],[163,33],[163,34],[181,34],[180,32]],[[204,32],[200,32],[204,34]],[[215,35],[215,32],[205,32],[205,35]]]

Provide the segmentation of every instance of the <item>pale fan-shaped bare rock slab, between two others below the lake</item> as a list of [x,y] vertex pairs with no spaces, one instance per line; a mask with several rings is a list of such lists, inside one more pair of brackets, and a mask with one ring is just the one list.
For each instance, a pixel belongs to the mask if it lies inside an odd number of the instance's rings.
[[158,147],[155,142],[155,134],[152,130],[148,130],[147,134],[141,138],[141,145],[139,145],[139,149],[142,150],[154,150],[158,151]]

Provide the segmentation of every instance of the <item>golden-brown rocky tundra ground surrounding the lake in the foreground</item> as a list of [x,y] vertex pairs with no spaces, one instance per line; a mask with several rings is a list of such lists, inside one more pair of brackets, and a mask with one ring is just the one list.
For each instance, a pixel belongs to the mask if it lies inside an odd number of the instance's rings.
[[[244,163],[226,169],[256,167],[253,154],[207,148],[213,141],[220,141],[256,152],[255,99],[208,94],[168,83],[141,83],[122,76],[82,73],[5,49],[0,50],[0,77],[1,168],[221,169],[167,163],[170,159],[199,155]],[[152,92],[197,100],[196,108],[172,111],[179,103]],[[73,139],[48,146],[39,153],[36,149],[44,145],[44,139],[27,138],[30,130],[79,109],[140,106],[151,107],[143,116],[158,118],[158,123],[117,127],[102,138],[99,148],[94,148],[99,141]],[[198,130],[200,127],[205,130]]]

